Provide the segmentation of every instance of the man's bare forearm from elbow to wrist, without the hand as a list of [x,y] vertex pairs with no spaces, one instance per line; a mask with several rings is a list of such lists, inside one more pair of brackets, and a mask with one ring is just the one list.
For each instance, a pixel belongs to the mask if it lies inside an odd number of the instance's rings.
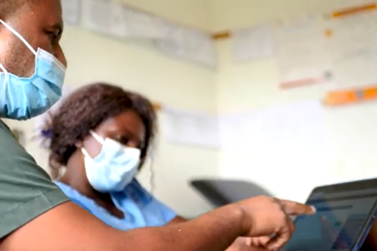
[[223,251],[242,234],[241,225],[242,212],[222,207],[186,223],[128,231],[124,250]]

